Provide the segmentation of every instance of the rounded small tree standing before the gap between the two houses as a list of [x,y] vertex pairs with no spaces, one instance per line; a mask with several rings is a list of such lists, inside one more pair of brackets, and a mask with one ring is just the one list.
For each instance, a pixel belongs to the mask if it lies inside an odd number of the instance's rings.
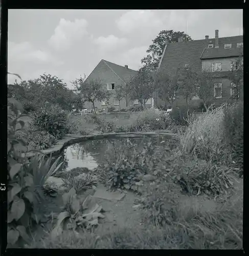
[[138,74],[131,78],[126,90],[131,100],[138,100],[141,108],[145,108],[146,102],[155,91],[153,73],[148,69],[140,69]]

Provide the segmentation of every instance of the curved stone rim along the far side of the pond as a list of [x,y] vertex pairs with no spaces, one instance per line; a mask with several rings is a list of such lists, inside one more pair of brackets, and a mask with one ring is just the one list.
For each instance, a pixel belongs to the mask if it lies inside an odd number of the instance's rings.
[[[65,147],[70,146],[74,143],[79,143],[87,140],[105,139],[105,138],[127,138],[127,137],[158,137],[164,136],[167,139],[173,139],[179,141],[179,136],[173,133],[152,133],[152,132],[140,132],[140,133],[105,133],[105,134],[95,134],[95,135],[78,135],[78,134],[66,134],[61,140],[48,148],[47,150],[41,150],[40,152],[44,155],[52,154],[52,156],[57,156],[62,153]],[[35,155],[35,153],[28,153],[28,158]]]

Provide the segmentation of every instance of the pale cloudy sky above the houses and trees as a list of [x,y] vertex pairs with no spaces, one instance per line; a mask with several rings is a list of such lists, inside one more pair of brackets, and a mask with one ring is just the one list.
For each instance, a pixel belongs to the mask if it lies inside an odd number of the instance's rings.
[[46,72],[71,88],[101,59],[138,70],[151,40],[171,29],[194,40],[216,29],[242,35],[242,10],[9,10],[8,71],[25,80]]

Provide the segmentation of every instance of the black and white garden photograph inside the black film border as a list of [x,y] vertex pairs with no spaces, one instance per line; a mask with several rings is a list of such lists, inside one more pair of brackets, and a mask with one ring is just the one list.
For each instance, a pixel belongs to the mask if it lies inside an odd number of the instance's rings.
[[9,9],[7,248],[243,250],[243,32],[242,9]]

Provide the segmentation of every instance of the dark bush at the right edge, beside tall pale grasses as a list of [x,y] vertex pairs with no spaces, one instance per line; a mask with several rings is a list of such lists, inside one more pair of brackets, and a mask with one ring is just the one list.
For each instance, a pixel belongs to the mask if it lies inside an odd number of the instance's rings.
[[233,152],[233,159],[239,167],[243,168],[243,102],[226,106],[224,109],[224,137]]

